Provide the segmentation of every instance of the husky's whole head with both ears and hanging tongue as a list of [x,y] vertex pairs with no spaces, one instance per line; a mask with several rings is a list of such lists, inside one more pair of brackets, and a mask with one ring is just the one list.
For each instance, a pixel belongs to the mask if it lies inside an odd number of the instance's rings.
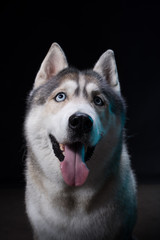
[[[32,152],[37,159],[54,156],[61,162],[64,181],[83,185],[89,174],[86,162],[95,147],[111,126],[117,124],[121,129],[123,125],[124,104],[113,52],[104,53],[93,70],[78,71],[68,68],[63,51],[53,44],[37,74],[28,106],[25,129]],[[48,173],[52,164],[42,161]]]

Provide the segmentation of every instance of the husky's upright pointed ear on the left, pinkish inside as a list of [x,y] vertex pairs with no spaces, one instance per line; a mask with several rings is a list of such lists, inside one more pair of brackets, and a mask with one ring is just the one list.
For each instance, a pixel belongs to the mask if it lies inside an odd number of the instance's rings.
[[46,83],[53,76],[67,67],[68,63],[63,50],[57,43],[53,43],[37,73],[34,88]]

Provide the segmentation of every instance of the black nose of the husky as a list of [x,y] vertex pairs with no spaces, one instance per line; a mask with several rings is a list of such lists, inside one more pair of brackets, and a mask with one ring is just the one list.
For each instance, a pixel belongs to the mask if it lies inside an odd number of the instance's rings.
[[92,126],[93,119],[85,113],[77,112],[69,118],[69,127],[74,131],[89,133],[92,129]]

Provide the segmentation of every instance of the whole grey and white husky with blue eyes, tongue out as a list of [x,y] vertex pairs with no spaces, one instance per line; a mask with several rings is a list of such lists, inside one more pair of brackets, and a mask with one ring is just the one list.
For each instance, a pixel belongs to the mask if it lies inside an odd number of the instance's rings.
[[136,184],[112,50],[93,70],[53,43],[28,98],[26,209],[38,240],[129,240]]

